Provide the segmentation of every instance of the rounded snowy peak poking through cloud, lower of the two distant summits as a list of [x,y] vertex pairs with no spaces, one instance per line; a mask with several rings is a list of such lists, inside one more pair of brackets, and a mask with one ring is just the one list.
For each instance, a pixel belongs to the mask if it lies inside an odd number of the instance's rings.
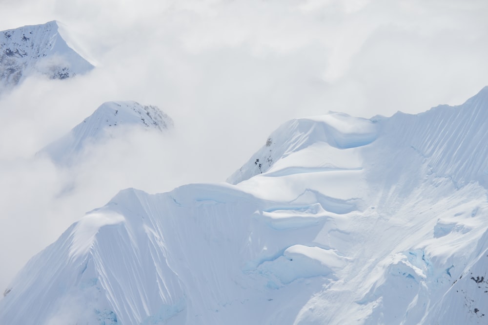
[[57,164],[70,164],[87,145],[112,137],[121,127],[134,126],[163,131],[173,127],[173,120],[156,106],[134,101],[106,102],[41,153],[47,153]]

